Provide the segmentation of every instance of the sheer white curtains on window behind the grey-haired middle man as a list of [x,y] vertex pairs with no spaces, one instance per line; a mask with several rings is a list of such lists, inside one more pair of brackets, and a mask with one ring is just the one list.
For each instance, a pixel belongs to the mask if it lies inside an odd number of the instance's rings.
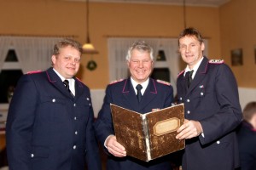
[[[179,68],[180,55],[178,54],[177,38],[143,38],[143,37],[110,37],[108,38],[108,62],[109,62],[109,81],[119,80],[128,76],[126,65],[126,54],[131,43],[135,40],[145,40],[154,49],[154,56],[158,51],[164,50],[166,61],[155,61],[154,68],[169,68],[170,80],[176,95],[177,74],[184,68]],[[204,54],[207,55],[207,40],[205,40],[206,49]]]

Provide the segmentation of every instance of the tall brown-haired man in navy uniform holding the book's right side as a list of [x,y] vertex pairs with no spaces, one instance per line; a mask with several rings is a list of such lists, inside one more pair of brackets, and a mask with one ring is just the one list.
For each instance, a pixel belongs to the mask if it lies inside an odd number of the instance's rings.
[[223,60],[208,60],[199,31],[187,28],[178,38],[187,64],[177,77],[178,103],[185,104],[177,139],[186,139],[183,170],[233,170],[239,166],[236,140],[241,122],[236,79]]

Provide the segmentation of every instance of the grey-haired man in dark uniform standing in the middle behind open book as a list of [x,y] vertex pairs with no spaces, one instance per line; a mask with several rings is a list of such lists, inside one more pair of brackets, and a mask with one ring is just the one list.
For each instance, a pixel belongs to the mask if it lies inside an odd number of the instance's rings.
[[[119,144],[114,136],[110,103],[131,111],[147,113],[171,106],[173,101],[173,89],[170,84],[149,78],[153,71],[153,49],[147,43],[134,42],[128,50],[126,60],[131,77],[108,85],[102,110],[95,123],[97,139],[108,152],[107,169],[170,170],[170,161],[165,156],[149,162],[126,156],[125,147]],[[140,96],[139,91],[142,99],[137,99],[137,96]]]

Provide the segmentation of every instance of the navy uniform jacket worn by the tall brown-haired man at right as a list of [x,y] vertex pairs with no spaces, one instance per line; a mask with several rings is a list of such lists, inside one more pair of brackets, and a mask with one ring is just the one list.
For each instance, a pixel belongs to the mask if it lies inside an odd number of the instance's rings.
[[201,122],[203,135],[186,140],[183,170],[230,170],[239,166],[234,129],[241,122],[236,79],[230,68],[204,57],[187,88],[183,72],[177,77],[178,103],[185,118]]

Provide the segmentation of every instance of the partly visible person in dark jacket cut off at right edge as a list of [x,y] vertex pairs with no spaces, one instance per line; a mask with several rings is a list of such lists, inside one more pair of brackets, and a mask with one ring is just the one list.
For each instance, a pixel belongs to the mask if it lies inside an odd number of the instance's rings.
[[248,103],[243,112],[243,122],[237,131],[241,170],[256,169],[256,102]]

